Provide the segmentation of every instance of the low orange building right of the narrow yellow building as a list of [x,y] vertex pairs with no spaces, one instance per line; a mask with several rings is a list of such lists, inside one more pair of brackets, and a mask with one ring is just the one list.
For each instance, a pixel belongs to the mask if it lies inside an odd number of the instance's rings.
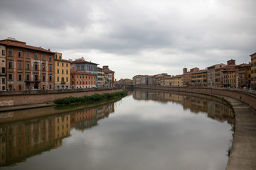
[[70,81],[72,89],[88,89],[96,87],[97,75],[87,72],[70,71]]

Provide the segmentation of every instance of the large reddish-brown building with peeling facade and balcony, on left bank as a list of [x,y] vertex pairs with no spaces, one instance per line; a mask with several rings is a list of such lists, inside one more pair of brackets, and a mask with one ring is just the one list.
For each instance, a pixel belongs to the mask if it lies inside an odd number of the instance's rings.
[[6,89],[53,89],[54,53],[42,47],[8,38],[0,40],[6,47]]

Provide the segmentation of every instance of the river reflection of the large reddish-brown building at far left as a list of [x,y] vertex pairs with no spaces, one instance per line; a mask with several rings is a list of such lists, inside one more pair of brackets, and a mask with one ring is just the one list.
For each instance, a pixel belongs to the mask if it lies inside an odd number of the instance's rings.
[[0,125],[1,166],[22,162],[54,147],[54,123],[54,118],[46,118]]

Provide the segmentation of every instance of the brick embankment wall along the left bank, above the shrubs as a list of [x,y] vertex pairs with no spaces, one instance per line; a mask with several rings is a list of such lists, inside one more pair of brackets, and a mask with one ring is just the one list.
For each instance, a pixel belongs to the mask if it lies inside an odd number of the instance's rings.
[[81,97],[92,94],[107,94],[122,91],[121,88],[109,89],[78,89],[78,90],[54,90],[54,91],[4,91],[0,92],[0,107],[21,106],[28,104],[53,102],[58,98],[69,96]]

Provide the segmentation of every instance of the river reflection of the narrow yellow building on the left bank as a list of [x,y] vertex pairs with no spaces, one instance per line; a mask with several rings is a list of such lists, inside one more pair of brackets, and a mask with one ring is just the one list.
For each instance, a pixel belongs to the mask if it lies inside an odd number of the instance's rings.
[[55,117],[55,147],[62,145],[62,139],[70,136],[70,115]]

